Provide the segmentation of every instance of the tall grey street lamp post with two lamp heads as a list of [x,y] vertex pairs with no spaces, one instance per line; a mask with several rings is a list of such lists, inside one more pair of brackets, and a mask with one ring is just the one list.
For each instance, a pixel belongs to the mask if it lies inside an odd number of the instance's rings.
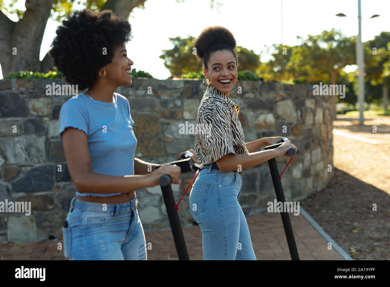
[[[336,14],[339,17],[345,17],[343,13]],[[370,18],[378,17],[373,15]],[[358,102],[359,102],[359,125],[363,125],[363,111],[364,111],[364,49],[362,43],[362,9],[360,0],[358,0],[358,39],[356,42],[356,64],[358,64]]]

